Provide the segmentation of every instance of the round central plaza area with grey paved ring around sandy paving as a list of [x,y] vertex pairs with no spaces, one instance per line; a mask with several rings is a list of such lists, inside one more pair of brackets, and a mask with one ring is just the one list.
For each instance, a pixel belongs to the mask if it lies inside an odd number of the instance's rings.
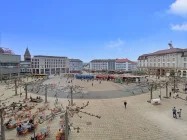
[[[44,84],[57,84],[57,86],[67,86],[71,85],[71,83],[67,83],[66,78],[60,79],[59,77],[53,77],[49,80],[46,80]],[[93,83],[93,87],[92,87]],[[83,92],[74,94],[74,99],[111,99],[111,98],[121,98],[134,96],[139,94],[144,94],[148,92],[146,87],[139,87],[136,84],[126,85],[126,84],[117,84],[112,81],[102,81],[99,84],[99,81],[81,81],[74,79],[73,84],[85,87]],[[28,87],[31,89],[31,87]],[[67,98],[68,92],[59,91],[59,98]],[[44,95],[45,91],[41,90],[38,95]],[[55,93],[52,91],[48,91],[49,97],[54,97]]]

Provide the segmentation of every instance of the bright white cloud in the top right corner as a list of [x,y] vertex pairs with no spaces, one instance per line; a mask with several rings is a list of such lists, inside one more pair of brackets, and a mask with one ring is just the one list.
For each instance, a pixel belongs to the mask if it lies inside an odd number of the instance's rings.
[[187,16],[187,0],[176,0],[173,4],[170,5],[170,13]]

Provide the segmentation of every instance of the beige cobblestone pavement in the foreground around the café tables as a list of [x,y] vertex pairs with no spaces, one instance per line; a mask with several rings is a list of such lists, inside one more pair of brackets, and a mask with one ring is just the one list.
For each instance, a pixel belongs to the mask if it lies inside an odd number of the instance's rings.
[[[0,86],[0,91],[3,87]],[[165,95],[165,89],[161,91]],[[6,91],[6,96],[14,94],[14,91]],[[34,94],[30,94],[33,97]],[[29,95],[29,96],[30,96]],[[157,98],[159,92],[154,92],[153,97]],[[28,96],[28,97],[29,97]],[[179,95],[185,98],[184,94]],[[2,97],[1,97],[2,98]],[[23,98],[23,97],[22,97]],[[85,109],[87,112],[100,115],[101,119],[80,114],[82,118],[74,116],[70,118],[73,125],[80,127],[80,133],[72,130],[69,136],[70,140],[186,140],[187,139],[187,102],[175,98],[162,98],[161,105],[151,105],[147,103],[150,94],[141,94],[137,96],[89,100],[90,105]],[[15,96],[15,100],[20,97]],[[50,106],[53,106],[54,98],[48,98]],[[12,100],[13,101],[13,100]],[[86,103],[87,99],[76,99],[76,105]],[[127,101],[127,109],[123,102]],[[67,99],[59,99],[64,106]],[[40,106],[40,105],[38,105]],[[174,119],[172,117],[172,108],[182,109],[182,117]],[[91,122],[91,125],[87,125]],[[54,140],[56,132],[59,129],[59,117],[51,123],[43,123],[39,128],[50,125],[51,133],[46,140]],[[38,128],[38,129],[39,129]],[[29,140],[31,135],[16,136],[16,130],[6,131],[7,140]]]

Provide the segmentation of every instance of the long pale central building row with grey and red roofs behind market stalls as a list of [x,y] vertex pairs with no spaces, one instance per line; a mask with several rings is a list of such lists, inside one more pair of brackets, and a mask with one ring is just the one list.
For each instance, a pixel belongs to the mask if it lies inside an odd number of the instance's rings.
[[90,62],[90,70],[131,71],[136,63],[128,59],[95,59]]

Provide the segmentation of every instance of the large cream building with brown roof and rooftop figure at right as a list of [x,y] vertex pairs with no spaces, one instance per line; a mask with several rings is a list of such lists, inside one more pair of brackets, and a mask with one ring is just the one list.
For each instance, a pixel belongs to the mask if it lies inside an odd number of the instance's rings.
[[174,48],[172,43],[168,45],[169,49],[139,56],[138,69],[155,75],[166,75],[173,71],[186,77],[187,49]]

